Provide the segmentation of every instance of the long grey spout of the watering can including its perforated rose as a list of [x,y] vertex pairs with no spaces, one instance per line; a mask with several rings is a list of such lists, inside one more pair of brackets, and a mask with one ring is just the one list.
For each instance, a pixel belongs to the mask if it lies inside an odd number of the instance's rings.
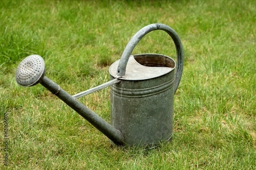
[[90,122],[99,131],[105,134],[117,145],[123,145],[122,133],[110,125],[85,105],[77,101],[73,96],[64,91],[58,84],[44,76],[44,60],[38,55],[31,55],[22,60],[16,71],[16,81],[21,86],[32,86],[41,83],[45,88],[55,94],[84,119]]

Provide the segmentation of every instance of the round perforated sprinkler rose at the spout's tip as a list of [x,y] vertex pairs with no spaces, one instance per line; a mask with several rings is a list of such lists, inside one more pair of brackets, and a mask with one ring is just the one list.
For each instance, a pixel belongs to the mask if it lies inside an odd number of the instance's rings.
[[30,55],[17,67],[15,79],[23,87],[36,85],[45,74],[44,59],[39,55]]

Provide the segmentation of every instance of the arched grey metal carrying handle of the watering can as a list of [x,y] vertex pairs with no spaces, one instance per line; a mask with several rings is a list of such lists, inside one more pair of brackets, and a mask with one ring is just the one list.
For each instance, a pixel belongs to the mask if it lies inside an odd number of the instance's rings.
[[125,75],[125,69],[128,62],[129,57],[131,56],[131,52],[134,50],[137,43],[149,32],[154,30],[163,30],[166,31],[171,37],[172,40],[175,43],[176,51],[177,51],[177,70],[175,73],[175,85],[174,85],[174,92],[177,91],[177,88],[180,83],[182,71],[183,71],[183,61],[184,61],[184,52],[182,43],[180,41],[180,38],[178,34],[169,26],[161,23],[155,23],[150,24],[148,26],[145,26],[144,28],[140,29],[128,42],[128,44],[125,47],[125,50],[122,53],[119,65],[117,67],[117,78],[122,77]]

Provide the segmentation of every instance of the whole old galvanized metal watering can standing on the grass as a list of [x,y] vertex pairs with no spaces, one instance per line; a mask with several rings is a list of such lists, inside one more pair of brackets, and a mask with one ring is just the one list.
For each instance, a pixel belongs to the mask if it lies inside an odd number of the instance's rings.
[[[177,66],[172,58],[162,54],[131,55],[137,43],[154,30],[166,31],[172,37]],[[132,37],[121,59],[109,68],[111,80],[95,88],[71,96],[44,76],[44,59],[38,55],[20,62],[15,79],[24,87],[41,83],[117,145],[154,147],[172,138],[173,98],[182,71],[180,38],[169,26],[156,23],[145,26]],[[111,86],[111,124],[76,100],[108,86]]]

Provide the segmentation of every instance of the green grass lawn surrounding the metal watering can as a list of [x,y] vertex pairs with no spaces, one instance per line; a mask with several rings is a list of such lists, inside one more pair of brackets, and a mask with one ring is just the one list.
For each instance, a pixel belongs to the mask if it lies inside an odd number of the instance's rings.
[[[172,142],[151,150],[109,140],[41,85],[15,82],[19,62],[41,55],[70,94],[107,82],[108,67],[143,26],[165,23],[185,50]],[[8,170],[256,169],[256,2],[252,0],[1,0],[0,120],[9,113]],[[175,58],[164,31],[133,54]],[[83,102],[110,121],[109,88]],[[3,126],[0,126],[3,136]],[[3,149],[3,138],[0,140]],[[3,150],[0,152],[0,169]]]

